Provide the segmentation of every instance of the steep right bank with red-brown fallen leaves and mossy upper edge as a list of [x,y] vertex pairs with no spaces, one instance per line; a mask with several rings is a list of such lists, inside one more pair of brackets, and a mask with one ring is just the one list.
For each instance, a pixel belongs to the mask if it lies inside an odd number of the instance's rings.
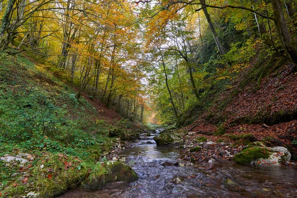
[[[297,73],[292,73],[293,63],[284,58],[270,65],[261,55],[230,84],[213,84],[183,115],[179,125],[186,132],[187,160],[207,162],[212,155],[232,160],[243,146],[255,141],[286,147],[292,160],[297,160]],[[220,146],[189,152],[199,137]]]

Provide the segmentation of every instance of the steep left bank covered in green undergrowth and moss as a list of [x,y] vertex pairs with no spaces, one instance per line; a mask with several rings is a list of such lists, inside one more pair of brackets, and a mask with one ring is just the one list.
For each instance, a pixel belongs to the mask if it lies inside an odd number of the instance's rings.
[[133,136],[143,127],[96,99],[77,100],[48,67],[0,54],[0,196],[53,197],[88,178],[113,181],[101,156],[125,142],[109,130]]

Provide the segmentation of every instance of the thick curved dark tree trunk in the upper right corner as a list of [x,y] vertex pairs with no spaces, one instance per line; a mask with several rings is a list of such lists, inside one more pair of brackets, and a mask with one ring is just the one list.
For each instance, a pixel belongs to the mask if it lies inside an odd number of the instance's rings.
[[[290,59],[297,65],[297,45],[292,38],[286,18],[284,16],[282,3],[280,0],[271,0],[273,9],[274,23],[277,28],[278,35],[282,41],[284,49],[289,54]],[[297,66],[295,66],[297,68]]]

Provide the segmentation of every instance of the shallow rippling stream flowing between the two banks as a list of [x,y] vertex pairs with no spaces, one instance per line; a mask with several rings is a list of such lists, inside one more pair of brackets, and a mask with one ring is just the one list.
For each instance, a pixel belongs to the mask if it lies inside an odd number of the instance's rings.
[[[178,149],[157,147],[142,134],[132,148],[119,156],[139,175],[135,182],[116,183],[95,192],[70,190],[59,198],[297,198],[297,170],[292,167],[254,167],[227,162],[215,169],[163,166],[177,162]],[[147,144],[147,142],[153,144]]]

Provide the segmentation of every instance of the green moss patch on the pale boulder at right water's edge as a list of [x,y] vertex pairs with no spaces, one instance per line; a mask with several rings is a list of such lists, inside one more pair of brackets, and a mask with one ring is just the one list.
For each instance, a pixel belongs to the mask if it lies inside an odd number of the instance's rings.
[[253,147],[253,148],[246,148],[241,152],[237,153],[233,160],[238,164],[247,165],[250,164],[252,161],[258,160],[260,158],[266,159],[270,155],[269,150],[266,148],[260,147]]

